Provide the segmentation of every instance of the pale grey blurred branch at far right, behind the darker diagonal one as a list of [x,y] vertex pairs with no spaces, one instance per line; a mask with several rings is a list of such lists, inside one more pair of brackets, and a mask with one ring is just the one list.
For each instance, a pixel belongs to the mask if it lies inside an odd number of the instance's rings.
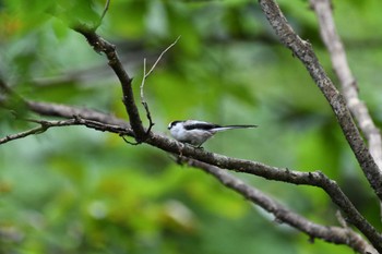
[[321,37],[329,49],[334,72],[353,116],[369,143],[369,149],[380,170],[382,169],[382,140],[366,105],[359,99],[357,81],[348,65],[344,45],[336,32],[330,0],[310,0],[320,23]]

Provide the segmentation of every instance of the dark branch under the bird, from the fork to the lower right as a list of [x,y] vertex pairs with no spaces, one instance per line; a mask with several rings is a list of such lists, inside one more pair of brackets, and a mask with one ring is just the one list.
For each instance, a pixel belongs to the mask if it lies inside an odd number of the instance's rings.
[[229,158],[188,145],[180,146],[177,142],[168,141],[168,138],[160,135],[153,135],[146,141],[146,143],[154,145],[160,149],[174,154],[180,154],[186,157],[214,165],[219,168],[255,174],[268,180],[321,188],[329,194],[332,202],[342,209],[342,211],[346,215],[348,221],[356,226],[370,240],[373,246],[382,253],[382,235],[362,217],[361,214],[359,214],[349,198],[339,189],[337,183],[329,179],[320,171],[291,171],[288,169],[279,169],[255,161]]

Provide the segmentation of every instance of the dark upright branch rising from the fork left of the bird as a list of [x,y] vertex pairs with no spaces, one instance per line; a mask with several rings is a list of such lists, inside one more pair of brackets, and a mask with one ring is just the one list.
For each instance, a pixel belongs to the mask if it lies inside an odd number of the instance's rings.
[[105,39],[99,37],[93,29],[89,29],[87,27],[79,26],[74,29],[87,39],[88,44],[94,48],[95,51],[104,52],[106,55],[107,59],[109,60],[109,65],[115,71],[116,75],[119,78],[119,82],[121,83],[123,93],[123,104],[129,114],[131,128],[135,133],[135,140],[138,143],[143,142],[145,138],[147,138],[150,133],[146,133],[142,125],[142,120],[136,108],[131,85],[132,78],[124,71],[123,65],[117,55],[116,46],[106,41]]

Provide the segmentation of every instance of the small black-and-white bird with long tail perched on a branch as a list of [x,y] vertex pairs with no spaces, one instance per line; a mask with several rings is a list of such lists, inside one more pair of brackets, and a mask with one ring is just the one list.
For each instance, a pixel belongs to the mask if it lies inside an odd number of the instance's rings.
[[256,128],[258,125],[218,125],[211,122],[198,121],[198,120],[186,120],[186,121],[174,121],[168,124],[171,136],[181,142],[188,143],[196,147],[206,142],[210,137],[215,135],[217,132],[223,132],[234,129],[248,129]]

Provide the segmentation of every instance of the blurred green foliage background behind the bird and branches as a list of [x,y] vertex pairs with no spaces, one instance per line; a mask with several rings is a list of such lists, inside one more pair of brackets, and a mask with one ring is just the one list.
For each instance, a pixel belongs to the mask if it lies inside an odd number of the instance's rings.
[[[308,1],[278,3],[337,83]],[[96,24],[104,4],[0,0],[1,75],[26,98],[127,118],[106,58],[68,28]],[[360,96],[380,124],[382,2],[333,4]],[[168,135],[168,122],[178,119],[259,124],[218,134],[204,147],[322,170],[382,229],[377,199],[333,112],[256,1],[112,0],[98,33],[117,46],[136,93],[143,59],[152,64],[181,36],[145,84],[155,132]],[[0,110],[1,136],[32,126]],[[336,207],[318,189],[237,176],[312,221],[337,225]],[[202,171],[118,135],[70,126],[0,146],[0,253],[354,253],[308,240]]]

